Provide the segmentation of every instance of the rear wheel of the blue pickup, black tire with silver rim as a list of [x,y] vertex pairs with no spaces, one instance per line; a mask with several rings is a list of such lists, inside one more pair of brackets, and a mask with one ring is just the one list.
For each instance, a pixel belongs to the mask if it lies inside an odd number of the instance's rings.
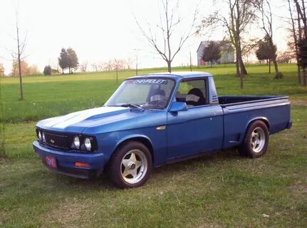
[[244,140],[239,146],[239,154],[251,158],[261,157],[266,153],[268,145],[269,129],[263,121],[256,120],[246,131]]

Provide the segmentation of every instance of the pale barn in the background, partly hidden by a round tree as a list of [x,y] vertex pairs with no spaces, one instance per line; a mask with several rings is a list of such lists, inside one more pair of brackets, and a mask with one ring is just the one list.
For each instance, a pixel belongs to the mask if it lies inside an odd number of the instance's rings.
[[[214,41],[221,43],[222,41]],[[205,66],[209,63],[202,60],[204,54],[204,48],[208,45],[209,41],[202,41],[197,49],[197,66]],[[221,58],[217,61],[219,64],[234,63],[234,48],[230,43],[224,43],[221,47]]]

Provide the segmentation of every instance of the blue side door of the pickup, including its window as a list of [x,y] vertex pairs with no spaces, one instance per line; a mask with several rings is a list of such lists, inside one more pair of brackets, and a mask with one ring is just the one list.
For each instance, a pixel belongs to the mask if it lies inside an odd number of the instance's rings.
[[168,160],[222,148],[223,111],[208,98],[207,78],[179,84],[176,100],[187,110],[167,113]]

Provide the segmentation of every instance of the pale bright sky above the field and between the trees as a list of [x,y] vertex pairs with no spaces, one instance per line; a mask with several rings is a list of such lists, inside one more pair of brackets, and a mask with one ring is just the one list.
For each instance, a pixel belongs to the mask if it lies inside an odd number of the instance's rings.
[[[172,4],[177,1],[171,0]],[[226,14],[222,0],[182,0],[178,1],[180,26],[172,36],[172,43],[187,32],[192,24],[194,10],[198,9],[198,19],[214,10]],[[287,16],[283,0],[271,0],[274,11],[274,42],[278,50],[286,49],[288,32],[286,24],[279,16]],[[0,0],[0,63],[4,63],[5,73],[11,72],[10,50],[16,51],[16,9],[19,11],[21,39],[26,37],[26,61],[38,66],[57,66],[61,48],[73,48],[79,63],[103,63],[110,59],[134,61],[137,56],[139,68],[166,66],[140,32],[135,19],[142,28],[152,28],[157,34],[156,24],[160,21],[160,0]],[[263,37],[262,31],[254,24],[248,36]],[[172,66],[197,64],[197,48],[202,40],[220,40],[225,36],[223,28],[213,33],[189,38],[184,48],[175,57]],[[174,45],[175,46],[175,45]]]

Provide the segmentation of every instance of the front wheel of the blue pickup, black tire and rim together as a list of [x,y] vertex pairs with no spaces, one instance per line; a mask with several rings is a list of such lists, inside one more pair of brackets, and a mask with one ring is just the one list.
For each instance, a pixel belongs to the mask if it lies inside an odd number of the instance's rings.
[[[132,153],[135,154],[136,160],[133,159]],[[127,167],[127,164],[130,165]],[[151,171],[152,156],[150,151],[145,145],[135,141],[127,142],[115,150],[110,158],[107,170],[110,182],[119,188],[140,187],[144,185],[150,177]],[[135,175],[135,178],[133,175]]]

